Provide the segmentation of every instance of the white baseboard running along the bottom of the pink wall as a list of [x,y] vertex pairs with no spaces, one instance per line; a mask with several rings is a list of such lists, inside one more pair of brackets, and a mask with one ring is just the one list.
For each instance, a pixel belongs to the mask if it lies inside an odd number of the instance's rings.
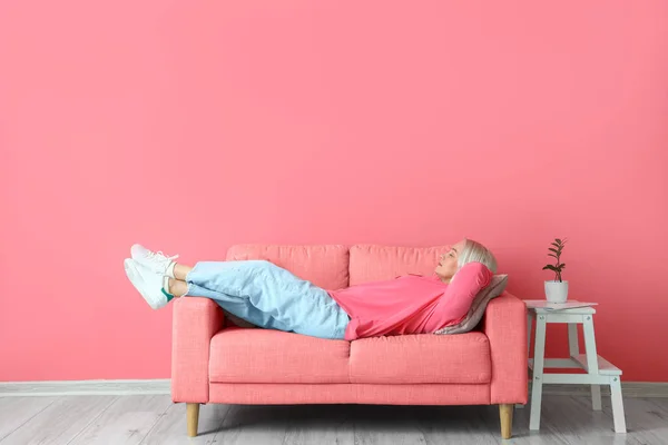
[[[153,380],[0,382],[0,397],[170,394],[169,384],[168,378]],[[622,382],[621,390],[625,397],[668,397],[668,382]],[[589,385],[544,385],[543,394],[589,396],[591,393]],[[602,385],[601,394],[609,396],[610,387]]]

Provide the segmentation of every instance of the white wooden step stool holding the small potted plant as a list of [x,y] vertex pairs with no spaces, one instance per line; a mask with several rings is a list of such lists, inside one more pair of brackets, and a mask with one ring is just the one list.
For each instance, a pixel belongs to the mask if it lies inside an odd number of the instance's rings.
[[[542,386],[546,384],[576,384],[591,385],[591,405],[595,411],[601,409],[600,385],[610,385],[612,400],[612,417],[615,432],[626,433],[623,416],[623,400],[621,398],[621,369],[600,357],[596,352],[596,337],[593,335],[592,307],[577,307],[570,309],[546,308],[546,300],[524,300],[527,304],[527,345],[531,347],[531,327],[536,318],[536,345],[533,359],[529,359],[532,369],[531,413],[529,429],[540,429],[540,405],[542,400]],[[580,303],[569,300],[569,303]],[[548,323],[568,324],[568,345],[570,358],[546,359],[546,327]],[[582,325],[584,334],[584,348],[587,354],[580,354],[578,345],[578,325]],[[544,373],[544,368],[582,368],[587,374],[554,374]]]

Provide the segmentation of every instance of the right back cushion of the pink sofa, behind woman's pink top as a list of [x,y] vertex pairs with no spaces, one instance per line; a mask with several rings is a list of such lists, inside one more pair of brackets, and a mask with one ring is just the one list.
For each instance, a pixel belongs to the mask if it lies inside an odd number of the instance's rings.
[[392,247],[355,245],[350,249],[350,284],[394,279],[400,275],[431,276],[439,256],[448,251],[446,246]]

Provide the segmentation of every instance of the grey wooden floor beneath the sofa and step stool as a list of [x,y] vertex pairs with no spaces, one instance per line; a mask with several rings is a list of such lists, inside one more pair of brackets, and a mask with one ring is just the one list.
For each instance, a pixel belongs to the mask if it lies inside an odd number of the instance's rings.
[[615,434],[610,399],[543,396],[540,432],[515,409],[502,441],[495,406],[204,405],[199,436],[186,436],[186,406],[167,395],[1,397],[0,445],[28,444],[668,444],[668,399],[625,398],[629,433]]

